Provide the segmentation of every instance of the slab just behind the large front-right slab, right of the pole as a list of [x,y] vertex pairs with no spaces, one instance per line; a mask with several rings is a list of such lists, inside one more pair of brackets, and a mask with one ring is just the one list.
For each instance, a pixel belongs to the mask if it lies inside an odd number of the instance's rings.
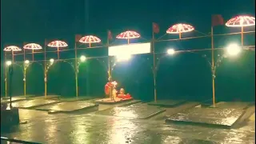
[[246,109],[248,106],[250,106],[250,102],[218,102],[215,104],[215,108],[221,108],[221,109]]

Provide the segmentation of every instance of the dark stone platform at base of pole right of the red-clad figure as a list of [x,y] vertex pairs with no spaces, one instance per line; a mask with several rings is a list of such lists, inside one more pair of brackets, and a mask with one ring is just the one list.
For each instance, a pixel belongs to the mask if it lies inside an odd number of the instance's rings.
[[185,100],[160,100],[157,102],[149,102],[148,104],[152,106],[175,107],[182,105],[185,102]]

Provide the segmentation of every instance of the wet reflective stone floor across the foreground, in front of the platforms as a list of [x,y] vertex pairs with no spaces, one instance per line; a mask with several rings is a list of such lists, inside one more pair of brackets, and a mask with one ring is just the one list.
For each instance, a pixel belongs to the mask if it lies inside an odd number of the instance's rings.
[[1,136],[50,144],[253,144],[254,119],[236,130],[166,125],[162,120],[138,120],[98,114],[47,114],[20,110],[23,124]]

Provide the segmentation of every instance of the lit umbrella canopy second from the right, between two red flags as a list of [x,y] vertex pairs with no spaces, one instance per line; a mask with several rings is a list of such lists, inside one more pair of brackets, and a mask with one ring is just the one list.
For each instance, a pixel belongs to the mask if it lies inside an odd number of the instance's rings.
[[194,27],[189,24],[178,23],[178,24],[175,24],[174,26],[170,26],[170,28],[168,30],[166,30],[166,33],[167,34],[180,34],[180,33],[190,32],[193,30],[194,30]]

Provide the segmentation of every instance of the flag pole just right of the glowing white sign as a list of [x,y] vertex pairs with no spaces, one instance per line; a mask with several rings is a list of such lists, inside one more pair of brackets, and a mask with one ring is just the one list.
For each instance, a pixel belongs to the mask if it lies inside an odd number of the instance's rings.
[[154,102],[157,102],[155,52],[154,52],[154,23],[152,23],[152,52],[153,52],[153,77],[154,77]]

